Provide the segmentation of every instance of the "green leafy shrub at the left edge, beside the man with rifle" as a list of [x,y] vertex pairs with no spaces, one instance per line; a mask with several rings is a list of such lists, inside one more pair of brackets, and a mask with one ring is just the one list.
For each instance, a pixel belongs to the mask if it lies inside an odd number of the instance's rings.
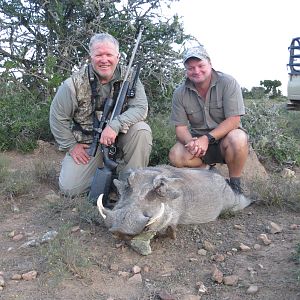
[[39,102],[38,96],[12,87],[0,88],[0,151],[29,152],[39,139],[50,140],[50,102]]

